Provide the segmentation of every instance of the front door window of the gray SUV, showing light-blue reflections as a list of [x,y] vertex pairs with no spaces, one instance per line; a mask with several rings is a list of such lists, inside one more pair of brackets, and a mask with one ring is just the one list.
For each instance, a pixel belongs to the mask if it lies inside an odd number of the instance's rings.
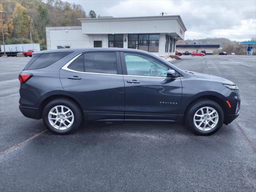
[[167,77],[168,66],[141,54],[124,53],[128,75]]

